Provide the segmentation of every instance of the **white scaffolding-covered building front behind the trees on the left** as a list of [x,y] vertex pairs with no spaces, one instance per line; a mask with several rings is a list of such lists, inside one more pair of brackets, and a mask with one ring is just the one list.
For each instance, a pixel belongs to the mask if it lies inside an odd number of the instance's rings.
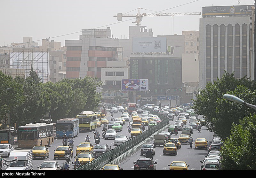
[[49,53],[47,51],[16,51],[10,52],[10,68],[25,69],[25,78],[32,68],[44,83],[50,81]]

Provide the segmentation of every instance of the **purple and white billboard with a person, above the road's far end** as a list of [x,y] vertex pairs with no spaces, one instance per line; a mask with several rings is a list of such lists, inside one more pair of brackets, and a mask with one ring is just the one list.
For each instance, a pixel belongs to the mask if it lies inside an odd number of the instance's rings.
[[148,91],[148,79],[122,79],[123,91]]

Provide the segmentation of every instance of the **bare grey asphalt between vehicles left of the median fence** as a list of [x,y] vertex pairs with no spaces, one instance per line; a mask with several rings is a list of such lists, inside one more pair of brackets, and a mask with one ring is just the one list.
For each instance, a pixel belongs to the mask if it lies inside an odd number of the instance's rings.
[[[116,113],[114,114],[114,118],[118,118],[118,117],[121,117],[121,113]],[[107,112],[107,118],[108,120],[110,120],[111,116],[110,116],[110,112]],[[130,120],[131,120],[131,115],[130,115]],[[123,125],[123,131],[117,131],[117,134],[124,134],[124,135],[127,135],[127,137],[130,137],[130,133],[127,131],[127,125],[128,125],[128,122],[126,122],[125,125]],[[101,132],[101,130],[103,129],[103,126],[101,126],[100,128],[98,127],[97,130]],[[147,129],[147,128],[146,128]],[[95,142],[94,142],[94,139],[93,139],[93,132],[94,131],[91,131],[91,132],[79,132],[78,136],[73,138],[73,140],[75,141],[74,142],[74,149],[73,149],[73,159],[71,159],[71,162],[74,162],[75,159],[74,157],[76,156],[76,146],[78,146],[81,142],[85,142],[84,138],[89,135],[91,137],[90,139],[90,142],[93,144],[93,146],[95,146]],[[101,135],[101,134],[100,134]],[[101,140],[100,140],[100,143],[107,143],[108,146],[113,149],[115,148],[114,146],[114,139],[112,140],[105,140],[102,138],[102,135],[101,135]],[[50,156],[48,159],[40,159],[40,158],[36,158],[36,159],[33,159],[33,169],[34,170],[38,170],[37,166],[40,166],[41,163],[43,161],[47,161],[47,160],[54,160],[54,150],[57,149],[58,146],[61,146],[62,145],[62,140],[59,140],[59,139],[55,139],[54,142],[51,144],[49,148],[49,151],[50,151]],[[8,158],[5,158],[5,159],[8,159]],[[62,164],[65,162],[65,159],[63,160],[60,160],[60,159],[57,159],[56,160],[60,166],[62,166]],[[70,169],[73,169],[74,167],[72,166],[72,164],[70,164]],[[2,169],[4,170],[5,168],[2,167]]]

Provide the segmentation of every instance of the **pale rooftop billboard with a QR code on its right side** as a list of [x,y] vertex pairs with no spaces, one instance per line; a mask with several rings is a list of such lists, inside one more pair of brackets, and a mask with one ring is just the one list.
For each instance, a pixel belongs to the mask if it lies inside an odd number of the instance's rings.
[[166,37],[132,38],[132,52],[166,52]]

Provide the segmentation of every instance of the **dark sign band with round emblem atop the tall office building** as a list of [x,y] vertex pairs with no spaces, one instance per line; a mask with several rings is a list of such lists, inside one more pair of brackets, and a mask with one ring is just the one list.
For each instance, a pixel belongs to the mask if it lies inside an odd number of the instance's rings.
[[203,7],[203,17],[206,16],[242,16],[252,15],[252,5],[210,6]]

